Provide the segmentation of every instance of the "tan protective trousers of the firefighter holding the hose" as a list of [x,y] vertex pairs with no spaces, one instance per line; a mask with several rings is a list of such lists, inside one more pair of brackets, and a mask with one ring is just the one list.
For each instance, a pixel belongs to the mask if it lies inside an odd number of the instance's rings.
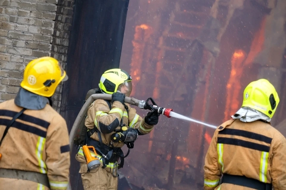
[[117,190],[118,177],[101,166],[87,172],[85,163],[80,163],[81,179],[84,190]]

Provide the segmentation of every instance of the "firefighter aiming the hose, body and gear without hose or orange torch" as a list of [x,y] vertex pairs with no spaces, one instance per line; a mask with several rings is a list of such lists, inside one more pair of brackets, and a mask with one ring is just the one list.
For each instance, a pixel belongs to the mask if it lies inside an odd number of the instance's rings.
[[[107,70],[102,74],[96,93],[112,94],[112,101],[97,99],[88,109],[85,125],[89,129],[84,144],[94,146],[101,167],[88,169],[80,147],[76,159],[80,162],[80,173],[85,190],[116,190],[117,169],[123,167],[124,157],[121,147],[133,148],[138,135],[152,131],[158,123],[158,115],[149,112],[144,119],[136,110],[124,103],[125,96],[132,90],[131,76],[122,69]],[[95,156],[91,152],[92,156]]]

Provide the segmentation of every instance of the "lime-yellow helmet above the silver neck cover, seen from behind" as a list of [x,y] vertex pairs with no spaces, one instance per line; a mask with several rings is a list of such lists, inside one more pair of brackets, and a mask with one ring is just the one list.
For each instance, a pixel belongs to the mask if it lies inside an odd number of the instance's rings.
[[272,118],[279,103],[278,94],[266,79],[259,79],[247,85],[243,92],[242,107],[250,107]]

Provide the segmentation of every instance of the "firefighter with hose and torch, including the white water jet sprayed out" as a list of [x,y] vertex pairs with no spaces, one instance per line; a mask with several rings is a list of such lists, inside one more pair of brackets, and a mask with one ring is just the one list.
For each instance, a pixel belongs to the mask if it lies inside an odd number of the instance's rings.
[[[129,98],[132,90],[131,80],[131,76],[124,70],[105,71],[100,79],[99,89],[91,89],[88,92],[87,100],[74,122],[70,133],[70,146],[77,145],[76,159],[81,165],[79,172],[84,189],[91,186],[95,189],[117,189],[117,169],[123,167],[124,158],[129,155],[130,149],[134,148],[136,139],[140,135],[149,134],[161,114],[168,118],[174,116],[214,127],[172,112],[170,108],[159,107],[153,98],[148,98],[147,101]],[[150,112],[142,118],[129,104]],[[121,150],[124,145],[128,147],[126,154]],[[92,157],[97,157],[100,164]],[[101,184],[96,177],[98,174],[108,182]]]

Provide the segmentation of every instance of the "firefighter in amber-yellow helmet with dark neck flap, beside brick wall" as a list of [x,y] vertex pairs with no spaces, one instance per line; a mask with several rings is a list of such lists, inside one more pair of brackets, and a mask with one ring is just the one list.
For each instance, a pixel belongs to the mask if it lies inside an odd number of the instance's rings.
[[52,57],[29,62],[15,99],[0,103],[0,189],[67,189],[69,134],[51,96],[66,72]]

